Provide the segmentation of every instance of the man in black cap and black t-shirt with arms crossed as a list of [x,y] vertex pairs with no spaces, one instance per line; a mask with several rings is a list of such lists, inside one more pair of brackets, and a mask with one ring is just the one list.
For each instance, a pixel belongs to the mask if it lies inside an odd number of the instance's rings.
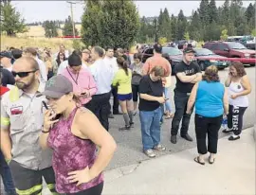
[[191,115],[186,114],[187,103],[192,92],[194,83],[202,80],[200,67],[197,63],[192,62],[194,51],[192,47],[183,50],[183,61],[175,66],[174,72],[176,77],[176,87],[174,89],[175,113],[171,129],[171,142],[177,142],[176,135],[178,133],[179,123],[182,119],[180,135],[187,141],[192,141],[192,137],[188,134]]

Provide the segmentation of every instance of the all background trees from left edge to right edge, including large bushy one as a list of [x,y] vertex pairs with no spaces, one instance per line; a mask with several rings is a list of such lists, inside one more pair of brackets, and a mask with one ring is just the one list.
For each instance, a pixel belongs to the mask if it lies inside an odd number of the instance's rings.
[[[256,36],[255,3],[243,7],[242,0],[225,0],[217,8],[215,0],[201,0],[190,17],[181,9],[177,16],[161,9],[157,17],[141,17],[133,0],[84,0],[82,42],[85,45],[128,48],[135,43],[154,43],[176,40],[211,41],[233,35]],[[27,30],[25,20],[10,5],[1,1],[1,32],[9,36]],[[46,37],[58,36],[60,21],[45,21]],[[64,21],[64,36],[72,36],[71,17]],[[75,29],[78,35],[78,30]]]

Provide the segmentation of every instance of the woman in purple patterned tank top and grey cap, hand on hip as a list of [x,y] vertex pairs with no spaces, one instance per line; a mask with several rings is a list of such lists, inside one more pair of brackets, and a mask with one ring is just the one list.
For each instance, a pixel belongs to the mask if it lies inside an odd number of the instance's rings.
[[[41,94],[48,99],[40,145],[53,150],[56,190],[61,194],[101,195],[102,171],[117,148],[113,137],[89,110],[80,107],[73,85],[52,77]],[[61,115],[56,119],[56,115]],[[97,148],[99,152],[97,154]]]

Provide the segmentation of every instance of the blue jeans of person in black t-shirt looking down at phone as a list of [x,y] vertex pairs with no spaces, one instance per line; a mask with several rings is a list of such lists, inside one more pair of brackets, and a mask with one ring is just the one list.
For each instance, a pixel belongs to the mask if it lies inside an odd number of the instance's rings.
[[161,108],[155,111],[139,111],[143,151],[153,149],[160,143]]

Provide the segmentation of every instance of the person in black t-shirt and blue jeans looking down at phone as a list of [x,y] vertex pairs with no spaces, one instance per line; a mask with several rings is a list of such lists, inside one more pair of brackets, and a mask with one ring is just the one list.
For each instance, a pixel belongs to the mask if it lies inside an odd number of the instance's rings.
[[162,78],[164,68],[155,66],[150,75],[144,76],[139,82],[139,119],[143,152],[150,158],[155,157],[155,151],[165,151],[160,144],[160,119],[162,111],[160,105],[165,103]]

